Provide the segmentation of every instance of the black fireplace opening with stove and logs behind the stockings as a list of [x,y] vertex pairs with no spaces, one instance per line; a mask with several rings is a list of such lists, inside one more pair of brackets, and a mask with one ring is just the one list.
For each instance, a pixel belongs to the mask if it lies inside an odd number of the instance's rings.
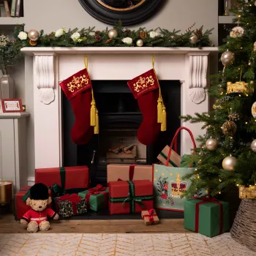
[[[137,132],[143,121],[137,100],[124,80],[94,80],[94,97],[99,110],[99,135],[83,146],[72,143],[70,132],[75,121],[66,97],[63,99],[64,165],[89,165],[91,186],[107,183],[107,165],[151,165],[157,155],[180,127],[181,84],[177,80],[160,80],[162,97],[167,110],[167,131],[159,132],[155,143],[145,146]],[[157,108],[157,105],[156,105]],[[148,127],[150,129],[150,127]]]

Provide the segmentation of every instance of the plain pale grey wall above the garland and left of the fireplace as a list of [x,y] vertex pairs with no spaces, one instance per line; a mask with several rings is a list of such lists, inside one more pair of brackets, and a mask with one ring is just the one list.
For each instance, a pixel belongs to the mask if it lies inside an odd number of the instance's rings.
[[[29,31],[29,29],[44,29],[45,33],[50,33],[63,26],[66,29],[96,26],[99,30],[105,29],[106,26],[111,27],[92,18],[83,10],[78,0],[25,0],[24,16],[26,31]],[[194,22],[197,28],[201,25],[204,25],[205,29],[214,28],[211,39],[214,45],[217,45],[218,0],[167,0],[165,6],[153,18],[131,28],[135,29],[145,26],[148,29],[154,29],[161,27],[164,29],[181,29],[182,32]],[[23,99],[27,111],[31,113],[27,132],[29,147],[28,165],[29,176],[34,176],[34,113],[31,58],[26,56],[25,62],[26,85],[19,71],[17,97]],[[20,68],[23,68],[22,65]]]

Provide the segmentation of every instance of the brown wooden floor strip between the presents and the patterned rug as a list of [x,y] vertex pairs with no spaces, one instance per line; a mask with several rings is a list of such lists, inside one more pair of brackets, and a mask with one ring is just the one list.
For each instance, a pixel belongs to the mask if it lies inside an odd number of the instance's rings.
[[[26,233],[26,228],[10,214],[0,215],[0,233]],[[146,226],[142,219],[56,220],[48,233],[189,233],[183,219],[161,219],[159,225]]]

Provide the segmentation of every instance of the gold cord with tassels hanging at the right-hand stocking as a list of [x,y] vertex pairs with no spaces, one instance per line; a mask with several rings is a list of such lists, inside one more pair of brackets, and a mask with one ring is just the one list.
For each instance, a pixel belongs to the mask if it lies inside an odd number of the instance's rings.
[[[151,60],[152,60],[152,66],[153,66],[154,74],[156,75],[156,78],[157,78],[157,73],[154,69],[155,56],[152,56]],[[159,97],[157,99],[157,123],[161,124],[161,132],[165,132],[166,129],[167,129],[166,108],[165,108],[164,101],[162,99],[161,87],[159,85],[158,78],[157,78],[157,83],[158,83],[158,86],[159,86]]]

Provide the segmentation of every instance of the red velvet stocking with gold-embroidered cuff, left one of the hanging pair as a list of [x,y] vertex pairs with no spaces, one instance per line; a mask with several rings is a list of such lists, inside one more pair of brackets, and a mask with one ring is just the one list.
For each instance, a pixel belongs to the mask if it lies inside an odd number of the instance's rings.
[[71,138],[77,145],[86,144],[94,134],[91,127],[91,80],[86,69],[80,70],[60,83],[67,99],[70,100],[75,114],[75,124],[72,127]]

